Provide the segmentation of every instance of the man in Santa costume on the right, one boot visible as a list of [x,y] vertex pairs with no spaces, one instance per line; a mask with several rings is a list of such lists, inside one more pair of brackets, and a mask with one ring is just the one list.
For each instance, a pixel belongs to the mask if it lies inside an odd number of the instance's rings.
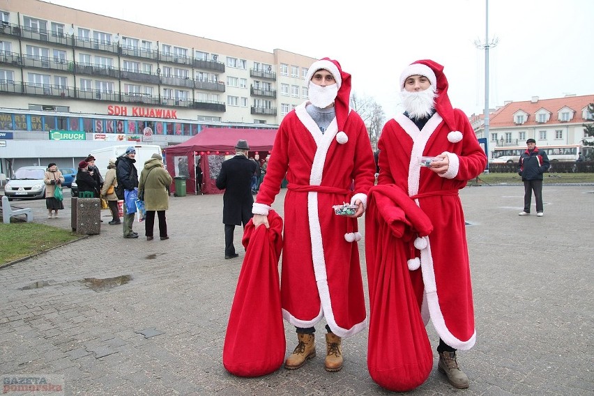
[[440,337],[439,371],[455,388],[468,388],[456,350],[473,347],[476,333],[458,190],[485,169],[487,157],[468,117],[452,109],[443,66],[430,60],[412,63],[400,76],[400,89],[406,112],[381,132],[378,184],[402,188],[432,222],[426,243],[411,248],[411,282],[425,324],[430,318]]

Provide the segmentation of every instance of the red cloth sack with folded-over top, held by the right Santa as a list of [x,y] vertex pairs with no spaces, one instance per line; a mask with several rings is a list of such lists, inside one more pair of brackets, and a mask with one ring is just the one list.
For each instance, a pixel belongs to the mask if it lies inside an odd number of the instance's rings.
[[370,291],[367,368],[379,386],[395,392],[420,386],[433,367],[407,266],[417,232],[426,236],[430,231],[427,215],[402,190],[388,185],[370,190],[365,214]]

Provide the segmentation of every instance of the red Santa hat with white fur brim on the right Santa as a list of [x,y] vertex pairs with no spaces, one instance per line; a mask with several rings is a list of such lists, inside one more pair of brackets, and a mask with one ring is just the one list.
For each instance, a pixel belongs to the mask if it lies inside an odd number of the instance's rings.
[[448,79],[443,74],[443,66],[430,59],[421,59],[411,63],[400,75],[400,89],[404,87],[404,81],[411,75],[424,75],[429,79],[432,86],[436,87],[435,110],[443,121],[446,121],[446,125],[450,130],[455,130],[454,110],[448,97]]

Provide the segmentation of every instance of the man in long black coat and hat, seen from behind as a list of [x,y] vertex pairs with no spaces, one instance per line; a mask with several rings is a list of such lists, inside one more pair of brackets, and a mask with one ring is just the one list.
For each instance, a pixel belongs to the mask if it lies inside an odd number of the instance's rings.
[[256,172],[256,162],[248,159],[250,146],[241,139],[235,145],[235,155],[223,161],[217,176],[216,185],[224,190],[224,258],[234,259],[239,254],[235,251],[233,234],[236,225],[248,224],[252,218],[252,175]]

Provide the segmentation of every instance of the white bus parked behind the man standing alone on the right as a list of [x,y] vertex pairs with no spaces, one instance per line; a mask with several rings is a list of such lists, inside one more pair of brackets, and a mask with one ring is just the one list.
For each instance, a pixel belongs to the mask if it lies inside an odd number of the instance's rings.
[[[537,146],[538,147],[538,146]],[[583,153],[586,159],[592,158],[594,147],[581,146],[581,144],[563,144],[559,146],[538,147],[539,151],[545,151],[550,162],[575,162],[579,153]],[[515,164],[518,162],[521,153],[526,147],[496,147],[493,151],[492,164]]]

